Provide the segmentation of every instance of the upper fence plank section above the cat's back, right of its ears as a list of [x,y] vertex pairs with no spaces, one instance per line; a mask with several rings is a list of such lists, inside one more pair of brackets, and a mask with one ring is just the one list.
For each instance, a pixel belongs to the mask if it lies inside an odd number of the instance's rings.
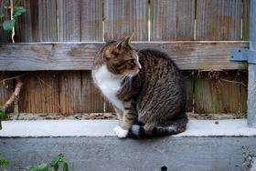
[[152,0],[150,40],[193,40],[195,0]]

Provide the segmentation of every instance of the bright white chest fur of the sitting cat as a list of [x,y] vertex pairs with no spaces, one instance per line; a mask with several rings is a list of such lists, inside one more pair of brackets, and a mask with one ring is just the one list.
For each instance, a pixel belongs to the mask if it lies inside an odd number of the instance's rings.
[[123,110],[123,103],[116,96],[117,92],[122,88],[122,79],[109,72],[106,65],[102,65],[93,72],[93,79],[100,87],[102,94],[109,99],[112,105]]

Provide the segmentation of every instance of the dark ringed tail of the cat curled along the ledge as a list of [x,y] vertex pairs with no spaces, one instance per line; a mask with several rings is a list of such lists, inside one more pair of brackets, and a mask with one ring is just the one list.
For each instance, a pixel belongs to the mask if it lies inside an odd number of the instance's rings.
[[128,132],[128,137],[141,138],[148,136],[170,136],[182,133],[186,130],[187,117],[178,118],[168,126],[139,126],[133,125]]

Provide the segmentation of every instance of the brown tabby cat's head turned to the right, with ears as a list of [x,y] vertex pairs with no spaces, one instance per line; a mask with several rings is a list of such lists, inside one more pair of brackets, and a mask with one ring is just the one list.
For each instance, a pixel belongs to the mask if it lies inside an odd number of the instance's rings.
[[131,36],[125,36],[103,45],[98,60],[114,75],[136,75],[141,69],[139,56],[130,45]]

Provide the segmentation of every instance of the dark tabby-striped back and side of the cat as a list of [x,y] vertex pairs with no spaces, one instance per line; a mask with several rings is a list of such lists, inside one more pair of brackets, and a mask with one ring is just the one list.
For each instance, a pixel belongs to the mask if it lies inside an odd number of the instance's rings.
[[167,113],[185,107],[184,78],[176,63],[155,49],[142,49],[138,55],[142,65],[139,77],[143,86],[139,108],[147,111],[149,108],[152,110],[152,106],[165,106],[155,110]]

